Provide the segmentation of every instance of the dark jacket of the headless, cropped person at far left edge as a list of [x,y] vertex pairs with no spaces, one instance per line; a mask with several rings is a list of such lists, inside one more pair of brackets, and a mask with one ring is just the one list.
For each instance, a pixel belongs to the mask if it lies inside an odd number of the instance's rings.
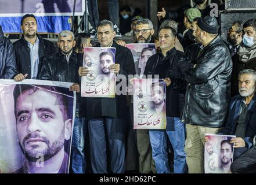
[[17,73],[12,42],[3,36],[2,27],[0,26],[0,79],[13,79]]

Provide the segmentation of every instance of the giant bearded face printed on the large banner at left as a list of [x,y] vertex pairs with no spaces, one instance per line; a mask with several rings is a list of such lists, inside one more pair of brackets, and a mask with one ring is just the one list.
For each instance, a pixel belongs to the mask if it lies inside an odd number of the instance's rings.
[[45,161],[52,158],[63,148],[64,140],[70,139],[72,120],[64,119],[61,103],[44,90],[27,90],[17,98],[17,135],[29,161],[38,160],[38,154]]

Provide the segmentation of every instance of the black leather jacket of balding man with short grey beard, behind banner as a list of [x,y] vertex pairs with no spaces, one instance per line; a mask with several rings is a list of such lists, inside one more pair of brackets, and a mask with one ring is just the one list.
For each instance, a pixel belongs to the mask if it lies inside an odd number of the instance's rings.
[[64,54],[55,53],[44,58],[39,80],[79,83],[78,68],[82,64],[82,54],[71,53],[67,62]]

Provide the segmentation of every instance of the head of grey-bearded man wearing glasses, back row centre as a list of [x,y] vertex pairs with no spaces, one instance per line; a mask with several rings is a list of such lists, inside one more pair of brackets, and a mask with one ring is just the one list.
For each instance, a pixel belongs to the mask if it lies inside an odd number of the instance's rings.
[[154,43],[154,39],[152,39],[154,35],[152,21],[148,18],[138,19],[134,34],[136,36],[135,43]]

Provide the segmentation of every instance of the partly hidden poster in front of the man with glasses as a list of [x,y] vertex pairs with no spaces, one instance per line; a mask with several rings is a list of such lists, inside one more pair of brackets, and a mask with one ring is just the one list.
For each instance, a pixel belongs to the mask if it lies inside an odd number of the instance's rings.
[[142,77],[145,66],[149,57],[156,54],[156,47],[153,43],[135,43],[126,45],[131,51],[134,57],[134,64],[136,69],[136,75]]

